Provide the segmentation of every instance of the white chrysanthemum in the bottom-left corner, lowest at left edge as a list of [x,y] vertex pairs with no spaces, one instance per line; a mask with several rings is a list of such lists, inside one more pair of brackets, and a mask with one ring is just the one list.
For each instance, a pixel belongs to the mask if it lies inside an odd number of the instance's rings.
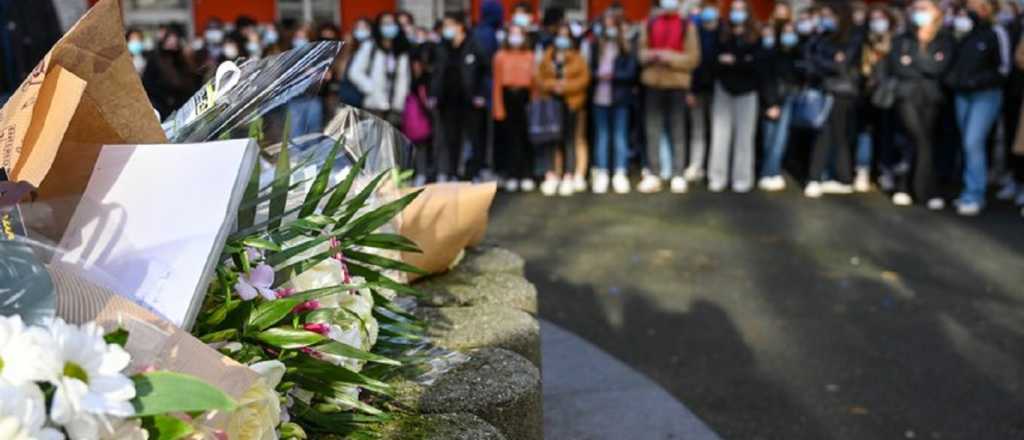
[[35,384],[13,385],[0,380],[0,439],[62,440],[46,428],[46,403]]

